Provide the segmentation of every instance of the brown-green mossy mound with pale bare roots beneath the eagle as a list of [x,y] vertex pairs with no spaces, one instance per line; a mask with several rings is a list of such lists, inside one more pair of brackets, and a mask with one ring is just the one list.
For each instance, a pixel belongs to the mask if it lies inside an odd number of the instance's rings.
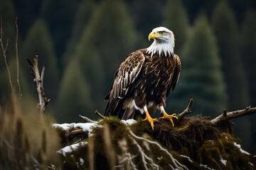
[[159,120],[154,130],[137,120],[101,120],[90,137],[61,154],[64,169],[254,169],[256,157],[241,149],[230,123],[210,124],[194,116],[175,122]]

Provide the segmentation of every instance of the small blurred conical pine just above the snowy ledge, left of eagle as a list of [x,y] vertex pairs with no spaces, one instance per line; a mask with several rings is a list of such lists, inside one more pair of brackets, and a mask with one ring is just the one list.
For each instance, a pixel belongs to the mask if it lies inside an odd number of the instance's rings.
[[65,69],[55,106],[55,118],[60,123],[78,122],[80,115],[95,117],[90,99],[90,86],[85,81],[80,63],[73,59]]

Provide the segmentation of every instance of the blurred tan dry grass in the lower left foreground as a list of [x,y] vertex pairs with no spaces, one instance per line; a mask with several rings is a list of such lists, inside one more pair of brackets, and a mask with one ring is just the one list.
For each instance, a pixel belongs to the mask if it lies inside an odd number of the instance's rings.
[[51,128],[53,120],[41,120],[34,106],[36,103],[31,101],[21,106],[21,101],[16,100],[1,107],[0,169],[60,169],[56,154],[60,142]]

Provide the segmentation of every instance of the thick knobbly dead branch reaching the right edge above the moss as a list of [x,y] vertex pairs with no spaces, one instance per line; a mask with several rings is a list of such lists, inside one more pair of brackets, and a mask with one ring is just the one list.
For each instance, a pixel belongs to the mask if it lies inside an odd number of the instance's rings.
[[250,107],[247,107],[245,109],[238,110],[238,111],[231,111],[231,112],[228,112],[228,113],[227,113],[226,110],[224,110],[223,114],[218,115],[218,117],[210,120],[210,123],[212,125],[217,125],[218,123],[220,123],[224,120],[239,118],[239,117],[242,117],[242,116],[245,116],[245,115],[251,115],[251,114],[254,114],[254,113],[256,113],[256,108],[250,108]]

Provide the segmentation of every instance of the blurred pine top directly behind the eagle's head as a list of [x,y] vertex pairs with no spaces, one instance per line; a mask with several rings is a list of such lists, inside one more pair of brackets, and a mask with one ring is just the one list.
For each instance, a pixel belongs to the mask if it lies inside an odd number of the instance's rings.
[[180,0],[169,0],[164,10],[163,26],[169,28],[175,35],[175,52],[179,54],[188,38],[188,16]]

